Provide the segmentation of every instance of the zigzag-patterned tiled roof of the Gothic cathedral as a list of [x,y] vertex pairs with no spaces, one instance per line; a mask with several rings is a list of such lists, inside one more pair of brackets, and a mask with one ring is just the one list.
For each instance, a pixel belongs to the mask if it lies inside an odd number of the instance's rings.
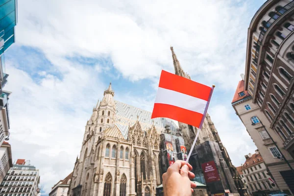
[[[168,124],[170,129],[175,133],[178,128],[177,123],[171,119],[166,118],[156,118],[151,119],[151,112],[136,108],[134,106],[122,103],[120,101],[115,101],[116,114],[114,117],[115,125],[122,132],[123,137],[127,138],[128,127],[133,126],[137,118],[140,122],[142,130],[147,131],[151,128],[152,120],[154,120],[154,126],[157,131],[161,132],[164,130],[164,127]],[[138,116],[138,117],[137,117]]]

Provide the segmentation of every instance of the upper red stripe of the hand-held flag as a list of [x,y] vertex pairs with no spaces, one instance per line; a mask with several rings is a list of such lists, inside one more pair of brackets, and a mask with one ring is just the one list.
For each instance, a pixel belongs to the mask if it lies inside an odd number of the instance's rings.
[[159,87],[208,100],[211,87],[162,70]]

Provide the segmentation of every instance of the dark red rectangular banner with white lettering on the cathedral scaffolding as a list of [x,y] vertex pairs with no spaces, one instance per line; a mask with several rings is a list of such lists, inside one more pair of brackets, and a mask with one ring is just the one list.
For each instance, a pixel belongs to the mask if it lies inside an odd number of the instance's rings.
[[220,180],[220,176],[217,170],[217,166],[214,161],[201,164],[202,172],[204,174],[205,182],[215,182]]

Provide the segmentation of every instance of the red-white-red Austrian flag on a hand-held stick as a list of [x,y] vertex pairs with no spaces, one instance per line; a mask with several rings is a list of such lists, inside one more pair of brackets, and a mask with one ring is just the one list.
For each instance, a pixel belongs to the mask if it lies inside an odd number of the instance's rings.
[[151,119],[170,118],[202,127],[213,87],[162,71]]

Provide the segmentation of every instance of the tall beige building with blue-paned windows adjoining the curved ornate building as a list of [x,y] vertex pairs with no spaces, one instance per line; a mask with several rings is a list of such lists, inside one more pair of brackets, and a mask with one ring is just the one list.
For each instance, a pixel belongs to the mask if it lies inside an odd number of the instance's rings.
[[[284,154],[286,159],[290,161],[292,167],[294,167],[293,158],[284,148],[283,141],[275,130],[270,128],[270,122],[260,110],[260,107],[256,103],[252,102],[252,97],[247,91],[244,90],[244,80],[241,80],[238,84],[234,99],[232,101],[232,106],[245,125],[254,144],[258,148],[259,153],[263,157],[266,166],[269,168],[278,188],[289,195],[293,195],[291,187],[287,185],[281,174],[283,171],[290,171],[286,162],[281,160],[281,152]],[[263,125],[260,122],[262,122]],[[266,130],[281,152],[275,147]]]

